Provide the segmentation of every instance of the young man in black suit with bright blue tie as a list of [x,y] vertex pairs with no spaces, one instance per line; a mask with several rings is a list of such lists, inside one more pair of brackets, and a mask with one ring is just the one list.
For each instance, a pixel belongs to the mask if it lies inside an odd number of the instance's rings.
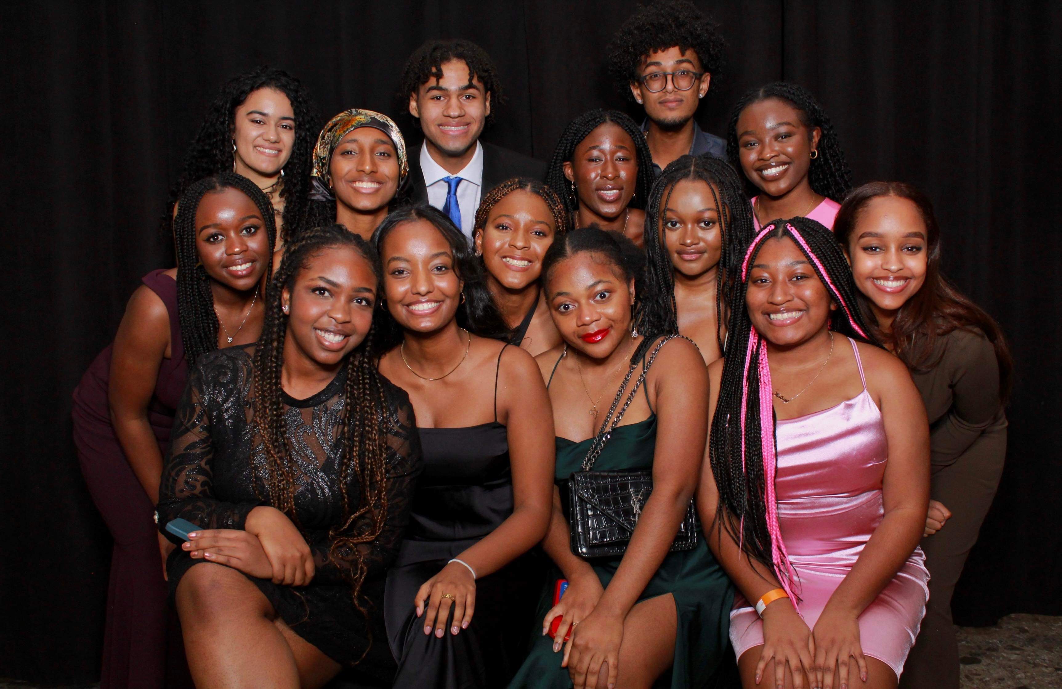
[[400,92],[424,132],[424,143],[409,156],[413,201],[448,214],[469,239],[480,199],[494,185],[545,174],[545,163],[479,140],[501,88],[494,63],[476,44],[424,44],[406,64]]

